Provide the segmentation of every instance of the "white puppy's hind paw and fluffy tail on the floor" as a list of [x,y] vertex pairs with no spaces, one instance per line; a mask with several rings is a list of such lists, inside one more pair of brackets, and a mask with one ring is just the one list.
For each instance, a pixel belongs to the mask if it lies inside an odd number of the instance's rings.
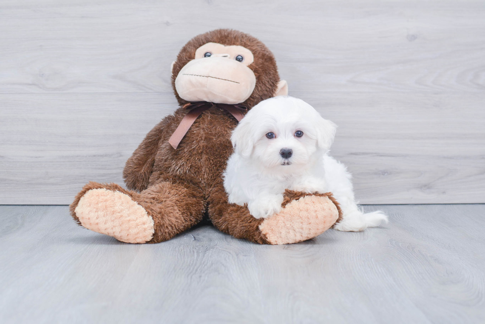
[[382,211],[374,211],[364,214],[356,209],[349,213],[343,213],[342,220],[334,226],[338,231],[363,231],[368,227],[376,227],[382,223],[388,223],[388,216]]

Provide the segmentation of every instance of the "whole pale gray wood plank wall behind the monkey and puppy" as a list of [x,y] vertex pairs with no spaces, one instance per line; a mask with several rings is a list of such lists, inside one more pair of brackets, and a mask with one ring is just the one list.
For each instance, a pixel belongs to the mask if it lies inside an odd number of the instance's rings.
[[68,204],[177,106],[191,37],[242,30],[339,125],[361,203],[485,202],[485,1],[0,2],[0,204]]

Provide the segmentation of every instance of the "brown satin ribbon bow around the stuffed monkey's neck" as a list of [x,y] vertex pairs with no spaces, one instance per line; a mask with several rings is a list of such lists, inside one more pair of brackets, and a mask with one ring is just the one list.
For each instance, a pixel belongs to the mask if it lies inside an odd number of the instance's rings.
[[170,145],[172,145],[173,148],[177,148],[180,141],[184,138],[184,136],[191,128],[192,124],[194,124],[195,119],[197,119],[197,117],[200,116],[203,111],[212,107],[218,107],[228,111],[231,115],[234,116],[234,118],[238,120],[238,122],[240,122],[242,120],[242,117],[244,117],[242,111],[247,110],[247,108],[241,104],[214,103],[206,101],[186,103],[182,106],[182,108],[191,109],[191,111],[189,111],[187,115],[182,118],[179,126],[168,140]]

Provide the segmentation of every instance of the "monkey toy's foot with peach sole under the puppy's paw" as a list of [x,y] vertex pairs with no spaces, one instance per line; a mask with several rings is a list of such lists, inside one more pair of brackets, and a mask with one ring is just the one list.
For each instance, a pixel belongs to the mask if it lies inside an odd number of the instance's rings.
[[283,206],[281,212],[259,225],[271,244],[296,243],[316,237],[330,229],[341,214],[331,193],[308,195],[287,190]]

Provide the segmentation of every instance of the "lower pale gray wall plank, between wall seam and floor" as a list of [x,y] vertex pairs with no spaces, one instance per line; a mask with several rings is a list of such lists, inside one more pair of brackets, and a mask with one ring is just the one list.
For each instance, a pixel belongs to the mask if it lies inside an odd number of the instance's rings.
[[[485,199],[485,93],[294,93],[339,129],[332,154],[365,204]],[[0,94],[0,203],[69,204],[176,107],[171,93]],[[142,109],[139,107],[143,106]],[[87,108],[88,107],[88,108]]]

